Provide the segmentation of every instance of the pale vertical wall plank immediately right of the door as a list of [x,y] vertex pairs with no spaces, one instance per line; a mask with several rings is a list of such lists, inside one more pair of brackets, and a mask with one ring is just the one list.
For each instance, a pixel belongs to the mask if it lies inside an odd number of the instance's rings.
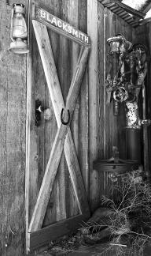
[[90,164],[90,205],[95,205],[98,191],[98,173],[93,170],[93,161],[98,157],[98,1],[87,1],[87,33],[91,39],[91,51],[88,65],[89,79],[89,164]]

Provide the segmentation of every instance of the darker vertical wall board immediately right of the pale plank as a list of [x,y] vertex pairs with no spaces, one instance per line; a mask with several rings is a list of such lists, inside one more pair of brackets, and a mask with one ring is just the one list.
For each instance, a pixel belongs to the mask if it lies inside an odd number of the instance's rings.
[[[105,148],[106,148],[106,89],[105,89],[105,48],[106,37],[105,37],[105,19],[106,13],[104,7],[98,3],[98,157],[101,159],[105,158]],[[94,168],[95,170],[95,168]],[[96,170],[95,170],[96,171]],[[96,171],[98,172],[98,171]],[[95,196],[96,205],[98,208],[99,201],[101,200],[102,190],[104,186],[103,175],[101,172],[98,175],[98,191]]]

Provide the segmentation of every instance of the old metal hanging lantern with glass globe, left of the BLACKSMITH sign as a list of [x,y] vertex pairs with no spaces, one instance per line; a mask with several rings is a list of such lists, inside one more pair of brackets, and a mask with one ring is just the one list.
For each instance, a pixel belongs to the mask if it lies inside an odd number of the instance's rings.
[[24,4],[13,4],[9,50],[13,53],[28,53],[28,29],[24,20],[25,8]]

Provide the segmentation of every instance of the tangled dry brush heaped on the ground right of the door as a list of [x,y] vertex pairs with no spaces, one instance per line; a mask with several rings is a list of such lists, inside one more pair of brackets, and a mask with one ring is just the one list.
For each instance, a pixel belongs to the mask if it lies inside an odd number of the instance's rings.
[[151,188],[135,172],[123,176],[116,187],[119,201],[102,198],[99,208],[80,229],[85,243],[109,241],[107,250],[116,248],[117,255],[143,255],[151,242]]

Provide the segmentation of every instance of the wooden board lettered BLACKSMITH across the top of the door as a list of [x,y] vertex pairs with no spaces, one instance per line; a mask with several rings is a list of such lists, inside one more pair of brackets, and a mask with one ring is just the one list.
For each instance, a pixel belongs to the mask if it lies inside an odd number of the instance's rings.
[[53,31],[56,31],[77,43],[90,46],[90,37],[87,36],[87,34],[79,31],[71,24],[53,16],[53,14],[48,13],[45,9],[42,9],[35,4],[33,5],[32,19],[46,24],[48,27],[53,29]]

